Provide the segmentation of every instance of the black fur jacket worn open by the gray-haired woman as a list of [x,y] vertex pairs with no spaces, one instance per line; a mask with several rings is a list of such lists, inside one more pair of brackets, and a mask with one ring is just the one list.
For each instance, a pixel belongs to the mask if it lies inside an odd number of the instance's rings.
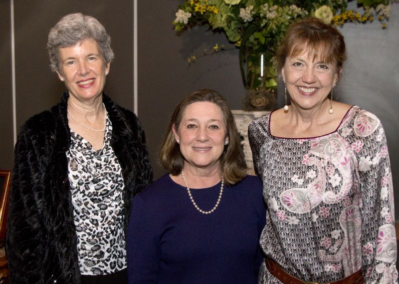
[[[59,104],[28,119],[18,135],[6,238],[11,284],[80,283],[66,158],[70,144],[67,101],[65,93]],[[105,93],[103,102],[125,184],[126,230],[133,196],[152,182],[153,172],[136,115]]]

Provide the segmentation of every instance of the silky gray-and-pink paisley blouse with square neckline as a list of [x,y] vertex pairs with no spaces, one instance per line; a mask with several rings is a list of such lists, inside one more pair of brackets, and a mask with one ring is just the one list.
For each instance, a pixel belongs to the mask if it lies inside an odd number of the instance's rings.
[[[385,133],[353,106],[338,129],[308,138],[270,134],[270,114],[248,130],[268,204],[265,255],[304,281],[362,269],[367,284],[398,283],[394,193]],[[278,284],[263,267],[259,283]]]

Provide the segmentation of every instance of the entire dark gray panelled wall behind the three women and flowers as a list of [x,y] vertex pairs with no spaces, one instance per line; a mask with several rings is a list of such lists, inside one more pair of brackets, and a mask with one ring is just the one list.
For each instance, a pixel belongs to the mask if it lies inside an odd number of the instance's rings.
[[[228,45],[224,34],[205,27],[176,33],[172,25],[182,0],[138,1],[138,115],[147,134],[155,176],[165,171],[157,151],[177,102],[198,88],[213,88],[233,109],[245,90],[238,50],[223,51],[189,66],[187,58],[215,43]],[[14,0],[17,127],[29,116],[56,103],[65,89],[48,68],[45,43],[49,29],[64,14],[81,11],[97,17],[112,38],[116,54],[106,91],[133,110],[133,0]],[[0,168],[12,167],[12,95],[9,1],[0,1]],[[399,4],[393,4],[388,29],[375,24],[346,24],[342,29],[349,59],[340,82],[339,100],[357,104],[382,120],[388,138],[394,188],[399,189]],[[281,92],[280,92],[281,93]],[[282,96],[279,96],[282,105]],[[4,123],[5,122],[5,123]],[[396,202],[399,220],[399,198]]]

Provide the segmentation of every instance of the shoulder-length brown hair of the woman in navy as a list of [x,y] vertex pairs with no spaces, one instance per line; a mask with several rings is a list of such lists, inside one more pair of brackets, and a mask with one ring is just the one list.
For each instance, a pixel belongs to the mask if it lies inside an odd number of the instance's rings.
[[176,142],[172,129],[173,126],[175,126],[175,129],[179,129],[186,107],[195,102],[211,102],[219,106],[221,109],[224,123],[226,125],[226,137],[228,137],[229,142],[224,146],[223,153],[220,157],[220,173],[227,185],[233,185],[246,175],[247,166],[240,143],[240,135],[235,126],[230,106],[227,101],[214,90],[197,90],[186,96],[176,106],[161,144],[161,164],[174,176],[179,175],[182,172],[185,160],[180,152],[180,146]]

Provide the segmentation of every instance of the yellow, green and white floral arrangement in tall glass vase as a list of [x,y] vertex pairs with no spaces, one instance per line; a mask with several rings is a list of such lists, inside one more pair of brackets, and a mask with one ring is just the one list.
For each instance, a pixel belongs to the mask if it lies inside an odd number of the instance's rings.
[[[239,49],[241,76],[247,90],[263,90],[265,100],[259,109],[273,108],[277,89],[275,53],[288,26],[301,18],[315,16],[335,26],[346,22],[367,23],[378,18],[382,27],[390,16],[389,0],[357,0],[362,10],[348,10],[350,0],[185,0],[176,12],[173,24],[177,31],[194,25],[206,25],[223,31]],[[210,52],[224,46],[217,44]],[[203,55],[209,54],[209,51]],[[196,60],[190,57],[189,62]],[[253,91],[251,92],[253,93]],[[274,102],[273,102],[274,96]],[[265,106],[266,105],[266,106]],[[256,109],[249,106],[247,109]],[[245,109],[245,103],[244,103]]]

